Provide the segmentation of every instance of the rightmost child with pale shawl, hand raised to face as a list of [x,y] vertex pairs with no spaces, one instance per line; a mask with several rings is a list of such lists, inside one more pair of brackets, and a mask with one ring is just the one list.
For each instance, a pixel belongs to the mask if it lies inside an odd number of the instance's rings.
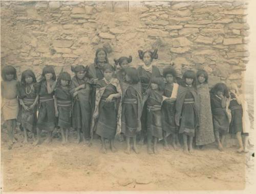
[[[230,86],[230,99],[228,100],[228,108],[231,111],[231,122],[229,125],[229,133],[236,134],[239,149],[237,152],[248,152],[248,136],[250,130],[250,120],[247,113],[247,104],[243,96],[239,94],[238,86],[234,83]],[[244,145],[241,133],[244,137]]]

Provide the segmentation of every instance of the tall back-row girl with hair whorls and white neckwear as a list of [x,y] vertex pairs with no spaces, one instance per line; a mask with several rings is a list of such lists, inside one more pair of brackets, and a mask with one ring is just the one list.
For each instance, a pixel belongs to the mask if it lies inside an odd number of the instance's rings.
[[[153,59],[158,59],[157,49],[154,52],[151,51],[138,51],[139,58],[143,61],[143,66],[138,67],[139,78],[142,85],[142,94],[146,92],[146,90],[151,85],[151,79],[154,77],[160,77],[159,69],[152,65]],[[141,142],[144,141],[146,134],[146,102],[143,106],[143,111],[141,115]]]

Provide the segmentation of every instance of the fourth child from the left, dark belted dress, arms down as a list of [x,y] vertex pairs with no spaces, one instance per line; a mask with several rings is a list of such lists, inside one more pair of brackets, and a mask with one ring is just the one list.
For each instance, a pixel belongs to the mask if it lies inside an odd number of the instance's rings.
[[54,91],[55,114],[58,117],[62,144],[68,143],[68,134],[71,127],[72,96],[70,94],[70,81],[69,73],[61,72]]

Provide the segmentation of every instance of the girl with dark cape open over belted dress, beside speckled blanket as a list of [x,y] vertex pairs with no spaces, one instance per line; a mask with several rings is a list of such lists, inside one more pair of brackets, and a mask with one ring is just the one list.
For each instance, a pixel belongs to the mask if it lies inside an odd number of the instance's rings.
[[193,152],[193,138],[199,125],[199,96],[196,90],[196,75],[193,70],[186,70],[183,75],[184,85],[180,85],[176,100],[175,122],[183,136],[184,152]]

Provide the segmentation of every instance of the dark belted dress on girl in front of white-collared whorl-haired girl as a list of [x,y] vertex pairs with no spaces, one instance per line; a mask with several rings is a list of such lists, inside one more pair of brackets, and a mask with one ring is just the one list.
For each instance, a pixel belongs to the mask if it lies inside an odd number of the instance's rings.
[[162,93],[156,90],[148,89],[147,95],[147,134],[148,136],[153,136],[162,139]]

